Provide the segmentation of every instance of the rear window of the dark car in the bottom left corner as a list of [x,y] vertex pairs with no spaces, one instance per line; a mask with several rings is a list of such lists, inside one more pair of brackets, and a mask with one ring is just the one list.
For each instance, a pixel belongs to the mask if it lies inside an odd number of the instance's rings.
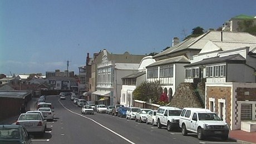
[[8,127],[1,127],[0,128],[0,139],[19,139],[19,130],[18,128],[8,128]]

